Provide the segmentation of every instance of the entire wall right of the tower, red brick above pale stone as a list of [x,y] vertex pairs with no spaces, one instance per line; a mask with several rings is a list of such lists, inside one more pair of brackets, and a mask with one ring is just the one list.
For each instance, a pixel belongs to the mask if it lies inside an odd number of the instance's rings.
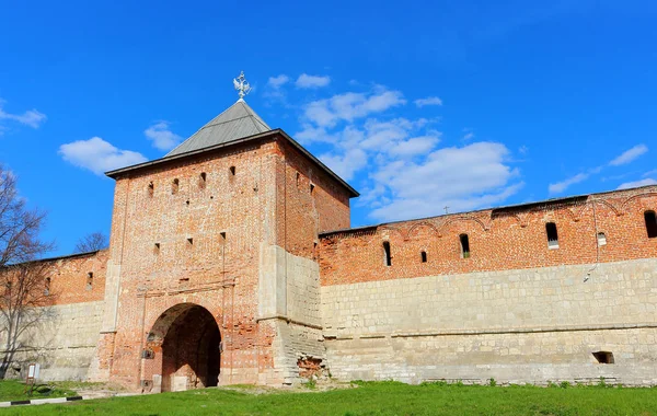
[[[657,208],[656,190],[324,234],[332,373],[656,383],[657,239],[644,221]],[[548,222],[557,226],[558,249],[549,247]],[[612,353],[614,363],[598,363],[599,351]]]

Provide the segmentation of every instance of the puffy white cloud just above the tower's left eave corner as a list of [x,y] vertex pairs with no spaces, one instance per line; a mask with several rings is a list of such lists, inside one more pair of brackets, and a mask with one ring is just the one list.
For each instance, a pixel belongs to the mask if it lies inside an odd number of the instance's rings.
[[67,162],[96,175],[147,161],[141,153],[117,149],[100,137],[61,145],[59,154]]

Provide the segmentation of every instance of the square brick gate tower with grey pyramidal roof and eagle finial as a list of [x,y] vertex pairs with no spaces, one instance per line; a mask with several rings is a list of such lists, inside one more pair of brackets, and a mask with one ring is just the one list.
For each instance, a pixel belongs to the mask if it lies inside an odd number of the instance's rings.
[[349,227],[345,181],[240,100],[116,181],[91,379],[146,391],[286,384],[323,359],[319,233]]

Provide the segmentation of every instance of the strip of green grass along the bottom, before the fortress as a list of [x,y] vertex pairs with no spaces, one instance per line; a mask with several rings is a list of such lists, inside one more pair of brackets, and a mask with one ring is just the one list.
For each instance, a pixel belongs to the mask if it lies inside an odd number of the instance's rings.
[[4,412],[9,415],[657,415],[657,389],[358,384],[357,389],[326,392],[264,394],[207,389]]

